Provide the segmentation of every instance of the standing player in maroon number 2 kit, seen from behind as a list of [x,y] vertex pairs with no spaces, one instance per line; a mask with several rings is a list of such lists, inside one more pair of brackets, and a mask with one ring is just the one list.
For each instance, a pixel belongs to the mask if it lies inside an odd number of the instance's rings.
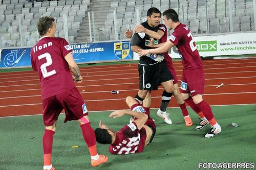
[[[82,82],[72,48],[60,37],[54,37],[56,25],[54,18],[45,16],[37,22],[39,41],[31,49],[31,64],[37,71],[41,82],[42,117],[46,126],[42,136],[44,149],[44,170],[54,170],[51,163],[53,136],[61,110],[65,109],[68,120],[77,120],[84,141],[91,154],[91,165],[98,166],[108,161],[105,155],[98,155],[94,130],[89,122],[88,110],[74,81]],[[72,78],[69,66],[75,75]]]

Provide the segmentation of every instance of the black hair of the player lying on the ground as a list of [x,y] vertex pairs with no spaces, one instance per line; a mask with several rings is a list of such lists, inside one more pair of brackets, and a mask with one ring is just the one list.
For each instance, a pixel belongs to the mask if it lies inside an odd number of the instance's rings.
[[96,136],[96,141],[102,144],[111,144],[112,136],[109,134],[108,130],[97,128],[94,131]]

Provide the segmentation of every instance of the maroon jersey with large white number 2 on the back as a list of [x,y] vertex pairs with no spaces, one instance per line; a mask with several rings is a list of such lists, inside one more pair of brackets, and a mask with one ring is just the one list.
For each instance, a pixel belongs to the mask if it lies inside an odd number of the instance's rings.
[[75,87],[65,56],[72,53],[63,38],[42,37],[31,49],[31,64],[41,81],[41,98],[47,99]]

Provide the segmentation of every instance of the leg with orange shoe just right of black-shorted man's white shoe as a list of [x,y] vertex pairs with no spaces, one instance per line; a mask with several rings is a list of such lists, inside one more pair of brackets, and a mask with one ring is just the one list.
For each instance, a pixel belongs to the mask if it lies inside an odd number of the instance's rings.
[[181,97],[181,93],[179,90],[179,86],[178,84],[174,84],[174,96],[176,98],[177,104],[180,106],[181,112],[183,114],[184,120],[185,120],[185,125],[186,126],[192,126],[193,122],[188,114],[187,108],[186,108],[186,104],[185,102],[182,100]]

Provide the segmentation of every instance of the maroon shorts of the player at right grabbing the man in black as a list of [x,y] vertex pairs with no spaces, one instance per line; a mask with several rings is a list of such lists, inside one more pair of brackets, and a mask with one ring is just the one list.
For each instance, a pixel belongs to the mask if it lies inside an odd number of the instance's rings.
[[203,68],[183,69],[180,88],[182,93],[190,93],[191,96],[204,94]]

